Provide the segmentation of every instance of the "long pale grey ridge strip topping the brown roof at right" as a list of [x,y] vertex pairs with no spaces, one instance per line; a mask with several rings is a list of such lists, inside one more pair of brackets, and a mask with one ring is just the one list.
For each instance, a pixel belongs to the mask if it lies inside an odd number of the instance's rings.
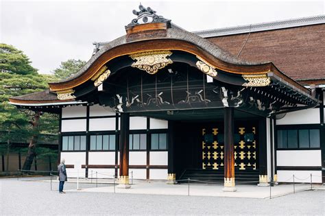
[[325,15],[310,16],[298,19],[288,19],[284,21],[275,21],[269,23],[258,23],[252,25],[240,25],[234,27],[225,27],[220,29],[209,29],[193,32],[202,38],[210,38],[217,36],[226,36],[232,34],[243,34],[248,32],[262,32],[274,29],[285,29],[289,27],[299,27],[304,25],[316,25],[325,23]]

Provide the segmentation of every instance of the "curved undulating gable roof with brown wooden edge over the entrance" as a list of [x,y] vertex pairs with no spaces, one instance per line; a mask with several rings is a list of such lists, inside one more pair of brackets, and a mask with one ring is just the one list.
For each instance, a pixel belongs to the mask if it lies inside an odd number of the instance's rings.
[[[144,25],[152,24],[153,23],[147,23]],[[148,43],[149,41],[154,41],[154,44],[150,45]],[[160,42],[159,46],[155,46],[158,41]],[[145,45],[148,46],[145,47]],[[125,49],[123,49],[123,47],[125,47]],[[228,71],[230,73],[267,73],[272,68],[272,62],[249,62],[237,58],[209,40],[171,25],[171,27],[163,30],[150,29],[149,31],[137,32],[134,33],[132,37],[126,34],[125,36],[121,36],[109,43],[104,43],[104,45],[102,45],[95,55],[88,60],[80,71],[58,82],[49,83],[49,86],[52,91],[61,91],[72,88],[76,84],[86,82],[87,79],[89,80],[91,76],[99,70],[97,65],[100,62],[99,59],[103,58],[104,54],[108,53],[109,51],[114,52],[111,55],[108,55],[110,56],[110,59],[112,59],[123,55],[129,55],[137,51],[147,51],[152,49],[174,49],[187,51],[204,58],[206,62],[212,64],[217,69]],[[110,59],[107,59],[107,61]],[[91,67],[95,67],[96,69],[91,71]],[[86,73],[90,74],[85,75]],[[80,79],[82,76],[84,76],[84,78]],[[78,79],[79,82],[76,82]],[[71,82],[74,82],[74,84],[69,85]],[[58,88],[60,84],[64,84],[62,85],[62,87],[64,87]]]

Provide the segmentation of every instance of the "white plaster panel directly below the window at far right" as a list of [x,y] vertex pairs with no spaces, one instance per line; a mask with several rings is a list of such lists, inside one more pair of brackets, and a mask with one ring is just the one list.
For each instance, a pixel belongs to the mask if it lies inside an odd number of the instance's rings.
[[276,151],[277,166],[322,166],[321,150]]

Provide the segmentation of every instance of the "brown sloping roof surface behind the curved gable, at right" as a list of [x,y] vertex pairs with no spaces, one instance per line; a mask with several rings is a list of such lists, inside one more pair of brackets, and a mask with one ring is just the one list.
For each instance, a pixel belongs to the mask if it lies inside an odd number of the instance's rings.
[[[208,38],[248,61],[272,61],[293,80],[325,79],[325,24]],[[247,40],[247,41],[246,41]],[[246,43],[245,43],[246,41]]]

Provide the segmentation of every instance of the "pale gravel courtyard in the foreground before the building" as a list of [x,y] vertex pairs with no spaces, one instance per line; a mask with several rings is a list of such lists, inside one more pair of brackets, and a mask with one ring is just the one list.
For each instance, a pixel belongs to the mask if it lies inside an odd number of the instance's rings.
[[[57,190],[53,187],[53,190]],[[81,185],[82,188],[89,185]],[[93,187],[93,186],[92,186]],[[67,184],[65,189],[73,189]],[[0,178],[0,215],[324,215],[325,191],[268,199],[50,191],[48,182]]]

